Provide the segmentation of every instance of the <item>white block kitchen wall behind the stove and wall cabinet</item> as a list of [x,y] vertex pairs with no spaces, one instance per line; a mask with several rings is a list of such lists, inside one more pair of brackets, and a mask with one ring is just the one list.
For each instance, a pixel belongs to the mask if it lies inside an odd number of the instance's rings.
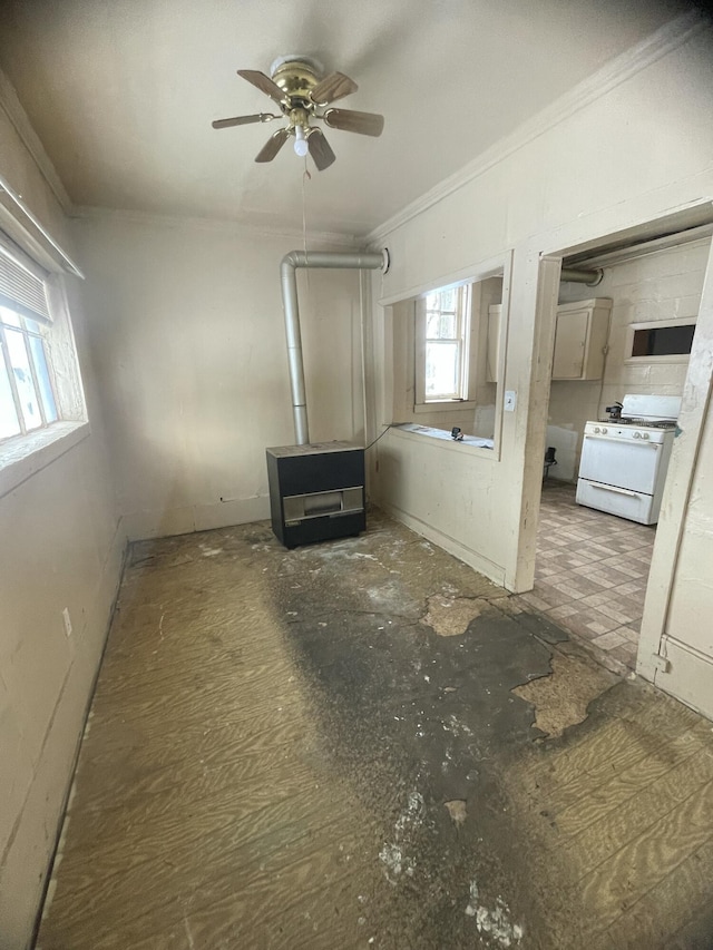
[[603,418],[606,407],[621,402],[625,393],[682,394],[687,361],[626,363],[626,333],[632,323],[697,316],[710,243],[705,238],[607,266],[596,291],[563,283],[560,303],[597,296],[613,304],[604,379],[553,380],[547,429],[548,444],[557,448],[553,478],[576,478],[585,422]]

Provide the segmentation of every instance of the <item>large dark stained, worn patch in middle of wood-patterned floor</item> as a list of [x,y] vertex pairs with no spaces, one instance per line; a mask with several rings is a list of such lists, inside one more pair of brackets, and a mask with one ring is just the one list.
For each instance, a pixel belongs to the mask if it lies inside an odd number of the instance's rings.
[[[392,558],[392,541],[351,541],[349,570],[343,543],[330,557],[304,548],[299,588],[289,557],[267,581],[310,684],[320,753],[382,827],[373,860],[388,888],[369,899],[378,946],[506,947],[521,921],[534,933],[544,924],[499,760],[533,743],[533,706],[511,691],[548,673],[551,650],[488,603],[492,586],[473,589],[465,565],[432,548],[426,560],[420,543]],[[360,549],[372,557],[355,558]],[[384,582],[378,601],[371,591]],[[473,880],[481,900],[471,915]]]

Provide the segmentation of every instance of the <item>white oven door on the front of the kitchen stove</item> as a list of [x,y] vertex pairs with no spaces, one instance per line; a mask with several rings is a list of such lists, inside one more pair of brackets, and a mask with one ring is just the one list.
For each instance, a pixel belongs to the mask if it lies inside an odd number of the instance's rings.
[[653,494],[663,458],[660,442],[585,435],[579,478]]

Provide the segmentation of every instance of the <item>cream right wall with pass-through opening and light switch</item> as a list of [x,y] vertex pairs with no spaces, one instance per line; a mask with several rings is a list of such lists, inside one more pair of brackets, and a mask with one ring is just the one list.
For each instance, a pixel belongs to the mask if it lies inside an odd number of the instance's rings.
[[556,303],[549,297],[557,288],[556,281],[540,287],[538,308],[540,255],[671,214],[713,189],[710,36],[662,45],[626,78],[619,72],[598,94],[585,92],[578,105],[553,112],[549,127],[534,120],[520,141],[482,157],[462,185],[427,196],[422,209],[372,235],[392,261],[383,291],[374,282],[377,425],[390,421],[377,294],[391,303],[514,249],[505,389],[517,393],[517,407],[504,413],[500,452],[489,460],[463,454],[445,482],[450,457],[424,437],[389,432],[375,447],[379,471],[375,463],[371,470],[387,508],[511,589],[531,586],[546,444]]

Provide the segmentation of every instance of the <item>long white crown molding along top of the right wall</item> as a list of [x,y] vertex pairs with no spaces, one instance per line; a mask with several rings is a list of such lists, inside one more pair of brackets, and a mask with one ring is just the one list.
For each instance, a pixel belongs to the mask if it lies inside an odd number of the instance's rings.
[[531,119],[518,126],[514,133],[499,139],[479,156],[473,158],[453,175],[434,185],[416,200],[408,204],[395,215],[388,218],[371,231],[365,243],[382,242],[397,228],[402,227],[428,208],[452,195],[485,174],[494,165],[505,160],[515,151],[524,148],[528,143],[538,138],[544,133],[559,125],[575,112],[606,96],[622,82],[636,76],[643,69],[662,59],[667,53],[683,46],[692,36],[700,32],[705,26],[704,18],[692,10],[665,23],[646,39],[636,46],[615,57],[602,69],[578,82],[549,106],[546,106]]

